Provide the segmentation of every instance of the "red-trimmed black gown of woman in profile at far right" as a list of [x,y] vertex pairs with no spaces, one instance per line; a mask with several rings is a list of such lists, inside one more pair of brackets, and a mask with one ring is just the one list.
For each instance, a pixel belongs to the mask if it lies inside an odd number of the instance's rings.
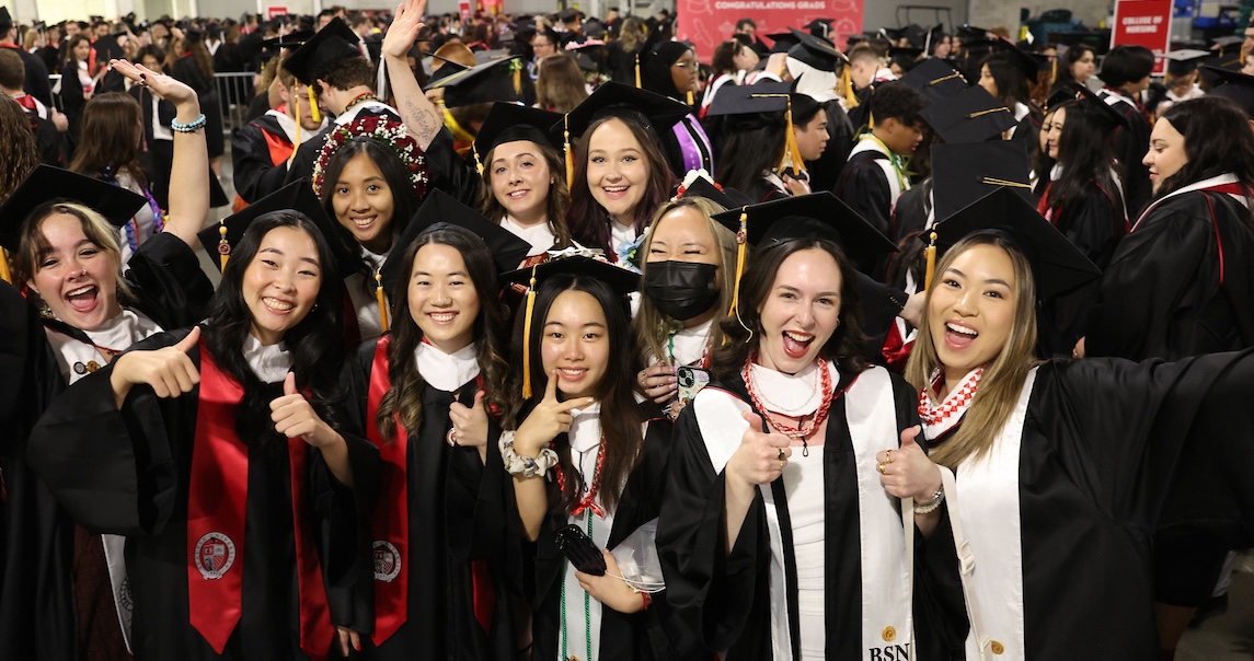
[[[1226,194],[1164,199],[1101,279],[1088,356],[1178,359],[1254,347],[1254,225]],[[1223,282],[1223,284],[1220,284]]]

